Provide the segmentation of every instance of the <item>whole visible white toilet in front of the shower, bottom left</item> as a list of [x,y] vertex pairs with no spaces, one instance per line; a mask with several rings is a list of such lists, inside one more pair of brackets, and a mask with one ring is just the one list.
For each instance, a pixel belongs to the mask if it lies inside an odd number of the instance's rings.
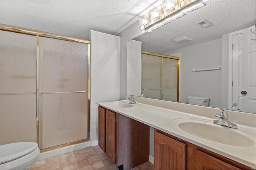
[[40,154],[36,142],[0,145],[0,170],[26,170]]

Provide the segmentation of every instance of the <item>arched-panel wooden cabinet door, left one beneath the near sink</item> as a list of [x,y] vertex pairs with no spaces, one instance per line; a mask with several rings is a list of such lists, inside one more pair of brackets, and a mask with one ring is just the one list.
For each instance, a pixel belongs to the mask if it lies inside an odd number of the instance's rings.
[[186,145],[155,130],[154,170],[185,170]]

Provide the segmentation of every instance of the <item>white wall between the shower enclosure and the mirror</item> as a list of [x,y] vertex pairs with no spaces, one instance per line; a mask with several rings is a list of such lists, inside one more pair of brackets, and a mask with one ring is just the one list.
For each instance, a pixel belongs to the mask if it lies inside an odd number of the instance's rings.
[[120,100],[120,37],[91,31],[90,141],[98,144],[99,102]]

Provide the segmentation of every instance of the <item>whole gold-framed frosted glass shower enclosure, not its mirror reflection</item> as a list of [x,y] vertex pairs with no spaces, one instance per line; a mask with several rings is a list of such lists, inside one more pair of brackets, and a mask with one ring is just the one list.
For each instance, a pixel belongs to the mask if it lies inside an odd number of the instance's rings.
[[43,152],[88,140],[90,42],[41,33],[1,24],[0,144]]

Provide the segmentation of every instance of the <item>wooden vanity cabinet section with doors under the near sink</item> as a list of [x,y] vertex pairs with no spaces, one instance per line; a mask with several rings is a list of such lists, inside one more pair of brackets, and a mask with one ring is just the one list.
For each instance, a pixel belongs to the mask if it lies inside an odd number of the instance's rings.
[[[170,161],[169,163],[166,163]],[[252,170],[200,146],[154,130],[154,170]]]

